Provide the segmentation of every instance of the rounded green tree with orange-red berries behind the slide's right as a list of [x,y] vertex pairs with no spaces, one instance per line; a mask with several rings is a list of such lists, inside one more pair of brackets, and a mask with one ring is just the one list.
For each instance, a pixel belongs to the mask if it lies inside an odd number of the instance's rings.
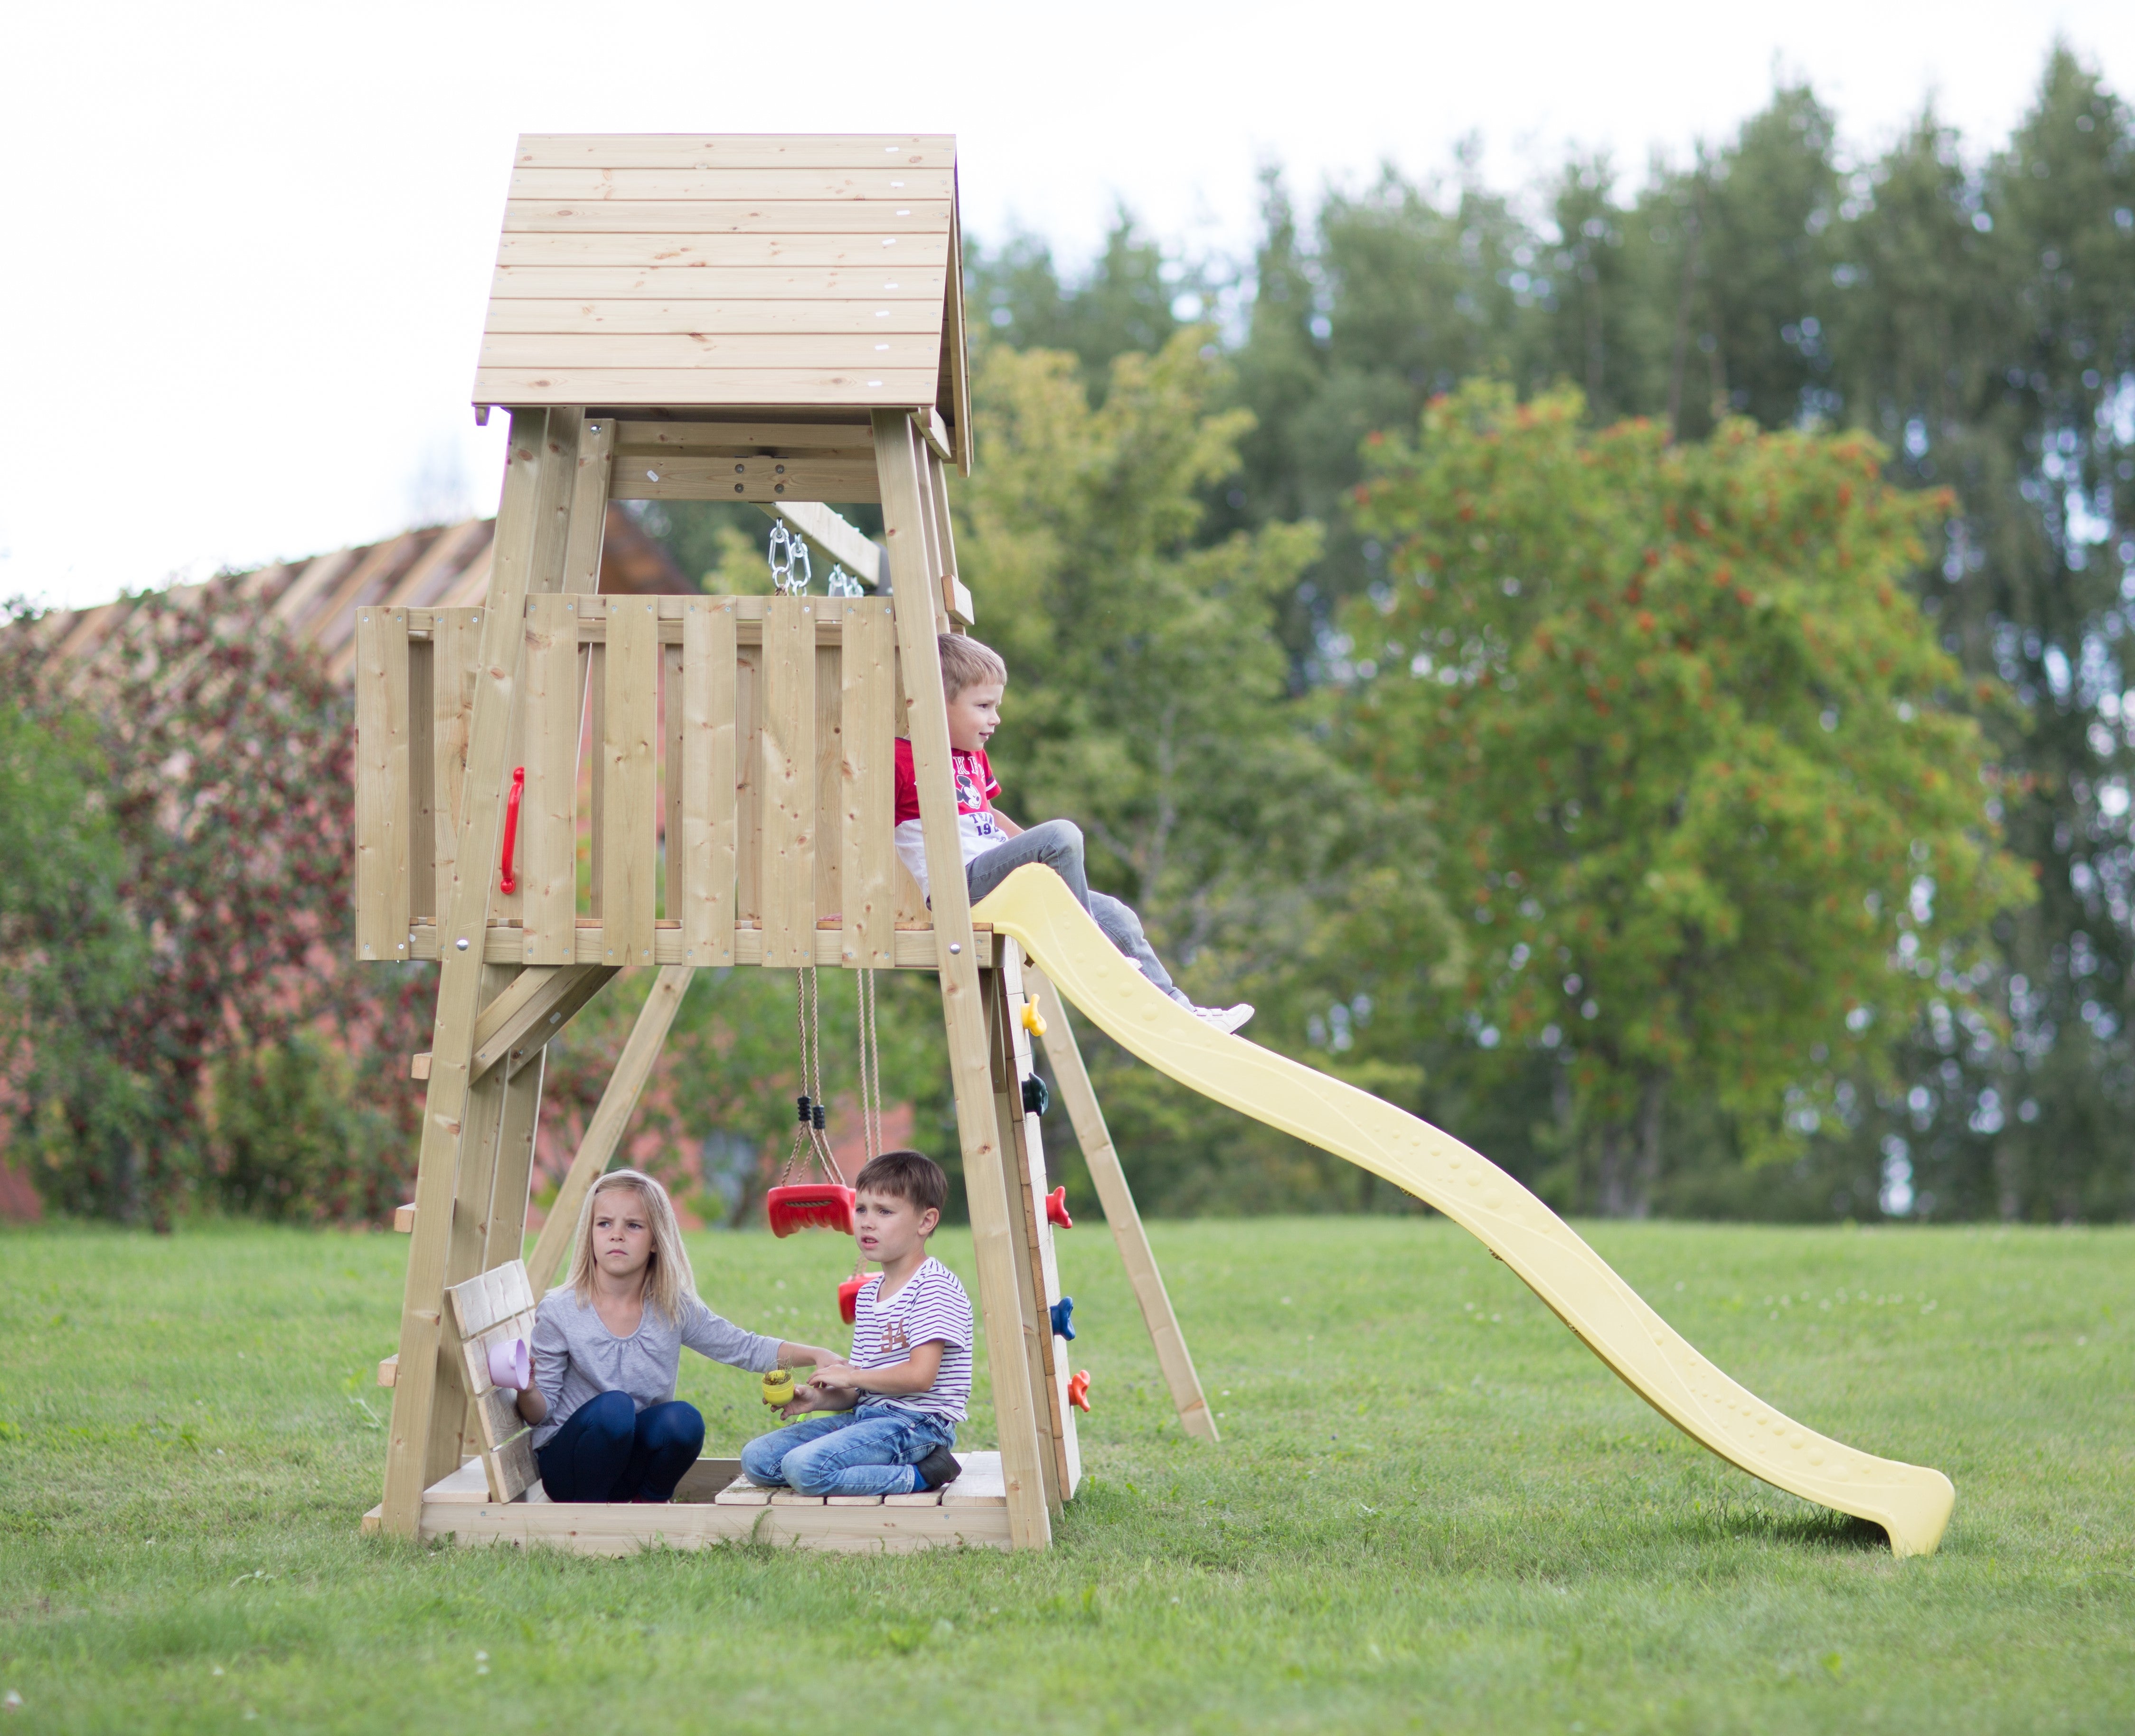
[[1471,1066],[1548,1051],[1559,1191],[1648,1209],[1672,1093],[1753,1153],[1943,1001],[2028,899],[1960,673],[1904,591],[1947,500],[1860,436],[1584,433],[1578,393],[1471,384],[1375,448],[1351,752],[1456,841]]

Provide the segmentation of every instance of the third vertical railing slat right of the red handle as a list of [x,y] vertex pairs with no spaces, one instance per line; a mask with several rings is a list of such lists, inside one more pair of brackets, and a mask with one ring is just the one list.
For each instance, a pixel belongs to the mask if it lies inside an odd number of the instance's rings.
[[681,952],[692,965],[730,965],[734,963],[732,598],[724,602],[690,598],[683,606],[681,670]]

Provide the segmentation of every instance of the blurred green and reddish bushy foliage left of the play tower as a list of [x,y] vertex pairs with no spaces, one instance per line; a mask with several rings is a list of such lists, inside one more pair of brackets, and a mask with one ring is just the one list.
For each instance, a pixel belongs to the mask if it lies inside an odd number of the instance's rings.
[[[11,1119],[38,1187],[158,1228],[216,1198],[371,1211],[406,1115],[354,1102],[389,1089],[410,1001],[344,963],[352,720],[318,653],[237,585],[141,598],[90,664],[51,660],[17,611],[0,709],[11,826],[30,822],[11,839]],[[339,1164],[237,1104],[239,1080],[318,1102],[299,1074],[320,1066],[350,1108]]]

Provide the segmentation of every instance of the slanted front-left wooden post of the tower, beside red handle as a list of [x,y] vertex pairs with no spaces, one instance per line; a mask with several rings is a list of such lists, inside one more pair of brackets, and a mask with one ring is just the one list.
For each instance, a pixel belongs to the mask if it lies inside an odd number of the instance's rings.
[[[532,589],[557,589],[562,583],[564,536],[557,532],[568,530],[568,487],[576,470],[581,423],[576,410],[512,412],[489,598],[480,619],[463,811],[455,828],[450,897],[440,899],[438,1021],[416,1162],[408,1288],[401,1300],[399,1379],[393,1386],[393,1422],[386,1435],[380,1520],[386,1531],[404,1537],[414,1537],[421,1529],[423,1488],[431,1482],[429,1452],[440,1433],[444,1288],[453,1256],[459,1159],[470,1132],[474,1021],[483,1004],[483,952],[504,824],[504,756],[525,645],[525,598]],[[487,1213],[487,1200],[483,1204]],[[448,1401],[446,1414],[457,1429],[459,1407]]]

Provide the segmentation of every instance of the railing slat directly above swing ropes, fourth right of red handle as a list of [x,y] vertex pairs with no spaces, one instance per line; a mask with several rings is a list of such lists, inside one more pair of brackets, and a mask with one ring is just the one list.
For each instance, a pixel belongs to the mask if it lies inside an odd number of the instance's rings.
[[816,963],[816,611],[809,598],[764,602],[762,717],[764,963]]

